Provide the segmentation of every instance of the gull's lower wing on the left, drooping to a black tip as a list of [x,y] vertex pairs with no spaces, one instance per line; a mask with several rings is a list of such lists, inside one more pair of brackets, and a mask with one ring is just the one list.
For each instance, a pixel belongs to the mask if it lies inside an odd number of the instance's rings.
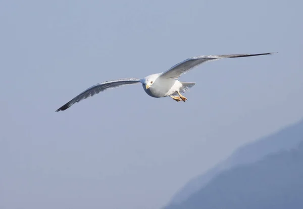
[[140,83],[140,79],[138,78],[123,78],[123,79],[118,79],[118,80],[112,80],[112,81],[105,81],[103,83],[98,83],[96,85],[93,85],[77,95],[75,98],[67,102],[64,106],[56,110],[58,111],[65,111],[74,103],[81,101],[82,99],[86,99],[89,96],[93,96],[101,91],[110,89],[110,88],[116,88],[119,86],[127,85],[127,84],[135,84],[135,83]]

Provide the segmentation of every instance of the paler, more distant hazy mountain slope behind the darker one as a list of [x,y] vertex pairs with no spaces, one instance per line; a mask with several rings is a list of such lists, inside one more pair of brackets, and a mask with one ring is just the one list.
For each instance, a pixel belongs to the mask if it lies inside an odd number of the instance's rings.
[[303,140],[303,120],[290,125],[277,133],[261,138],[238,148],[227,160],[218,164],[205,174],[190,180],[172,198],[170,206],[185,201],[190,195],[203,188],[220,172],[238,165],[254,163],[261,160],[265,155],[280,150],[288,150],[298,145]]

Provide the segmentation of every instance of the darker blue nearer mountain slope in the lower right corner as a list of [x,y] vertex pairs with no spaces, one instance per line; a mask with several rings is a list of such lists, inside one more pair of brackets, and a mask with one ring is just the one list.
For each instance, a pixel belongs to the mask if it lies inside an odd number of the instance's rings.
[[224,171],[181,204],[167,208],[303,208],[303,142]]

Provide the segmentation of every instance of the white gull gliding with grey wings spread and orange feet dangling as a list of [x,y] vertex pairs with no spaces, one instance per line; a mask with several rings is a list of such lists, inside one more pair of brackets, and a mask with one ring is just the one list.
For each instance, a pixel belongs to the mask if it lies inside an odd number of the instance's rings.
[[87,97],[93,96],[97,93],[105,91],[107,89],[112,89],[120,87],[123,85],[130,84],[140,84],[142,85],[144,91],[151,97],[161,98],[161,97],[171,97],[175,101],[186,101],[188,100],[181,93],[185,93],[191,87],[195,85],[194,82],[181,82],[178,78],[199,66],[200,64],[220,60],[223,58],[243,58],[261,55],[273,55],[274,53],[263,53],[263,54],[237,54],[237,55],[201,55],[196,57],[191,57],[183,62],[180,62],[170,69],[162,73],[156,73],[148,75],[144,78],[122,78],[117,80],[109,80],[102,83],[97,83],[86,90],[82,91],[80,94],[75,96],[64,106],[56,110],[55,112],[65,111]]

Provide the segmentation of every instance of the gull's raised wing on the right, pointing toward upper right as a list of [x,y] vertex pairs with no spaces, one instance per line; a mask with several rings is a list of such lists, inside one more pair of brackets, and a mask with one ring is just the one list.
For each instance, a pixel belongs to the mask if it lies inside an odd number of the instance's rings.
[[192,57],[187,60],[184,60],[181,63],[178,63],[177,65],[171,67],[169,70],[162,73],[162,78],[178,78],[183,73],[188,72],[193,67],[197,67],[200,64],[209,62],[209,61],[215,61],[222,58],[242,58],[242,57],[252,57],[252,56],[260,56],[260,55],[272,55],[274,53],[264,53],[264,54],[242,54],[242,55],[203,55],[198,57]]

